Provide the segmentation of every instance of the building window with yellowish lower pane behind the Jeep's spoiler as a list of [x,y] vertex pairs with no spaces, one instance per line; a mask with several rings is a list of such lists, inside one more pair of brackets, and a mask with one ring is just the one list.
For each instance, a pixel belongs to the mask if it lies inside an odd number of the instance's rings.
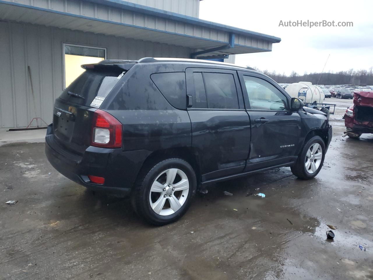
[[63,44],[63,86],[68,87],[84,72],[82,64],[106,59],[106,48]]

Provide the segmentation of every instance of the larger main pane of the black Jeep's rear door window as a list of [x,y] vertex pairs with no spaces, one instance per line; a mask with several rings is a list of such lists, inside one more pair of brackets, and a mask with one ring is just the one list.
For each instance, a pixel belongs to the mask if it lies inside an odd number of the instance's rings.
[[237,90],[232,74],[203,73],[207,105],[210,109],[238,109]]

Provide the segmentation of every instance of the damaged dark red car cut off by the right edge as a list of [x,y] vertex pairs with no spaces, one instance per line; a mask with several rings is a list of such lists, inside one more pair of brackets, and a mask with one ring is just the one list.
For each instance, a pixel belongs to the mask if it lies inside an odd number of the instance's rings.
[[354,105],[346,110],[345,134],[359,138],[363,133],[373,133],[373,91],[355,91]]

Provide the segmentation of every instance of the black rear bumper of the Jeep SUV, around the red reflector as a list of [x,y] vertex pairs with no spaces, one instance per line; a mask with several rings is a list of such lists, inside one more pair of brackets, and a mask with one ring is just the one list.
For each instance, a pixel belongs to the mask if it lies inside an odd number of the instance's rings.
[[[70,180],[90,190],[128,196],[142,163],[150,154],[146,150],[123,152],[89,146],[83,155],[66,152],[53,134],[47,134],[45,153],[50,164]],[[92,183],[88,175],[105,178],[103,185]]]

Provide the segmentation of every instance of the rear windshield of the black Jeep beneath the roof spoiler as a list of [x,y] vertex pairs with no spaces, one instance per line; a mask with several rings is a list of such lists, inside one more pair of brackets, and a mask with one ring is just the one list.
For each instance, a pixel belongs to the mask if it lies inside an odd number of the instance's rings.
[[[60,99],[79,105],[91,106],[96,96],[104,99],[124,74],[123,69],[88,69],[73,81],[60,95]],[[101,102],[102,103],[102,102]]]

